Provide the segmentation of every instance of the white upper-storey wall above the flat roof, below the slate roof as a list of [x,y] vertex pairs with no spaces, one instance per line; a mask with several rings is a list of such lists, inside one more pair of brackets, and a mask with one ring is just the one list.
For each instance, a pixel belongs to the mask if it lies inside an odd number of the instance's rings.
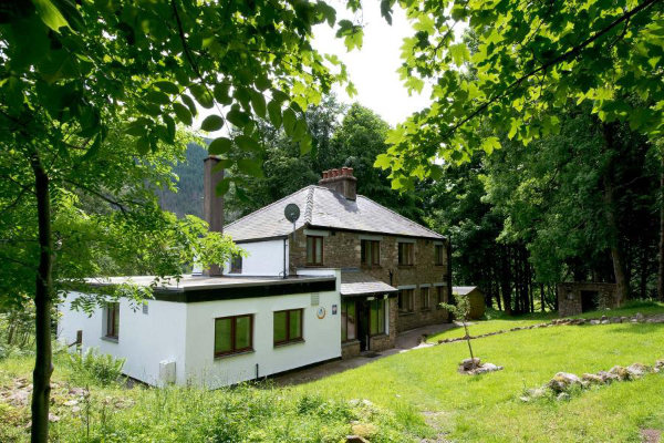
[[[281,276],[283,277],[283,239],[240,243],[249,255],[242,257],[242,274],[230,274],[230,264],[224,266],[228,276]],[[286,272],[288,275],[288,240],[286,240]]]

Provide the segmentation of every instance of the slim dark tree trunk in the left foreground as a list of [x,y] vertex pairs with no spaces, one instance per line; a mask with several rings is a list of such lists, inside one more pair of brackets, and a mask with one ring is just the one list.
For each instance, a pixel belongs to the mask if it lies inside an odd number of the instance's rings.
[[30,162],[34,172],[40,248],[34,291],[37,356],[32,373],[31,441],[33,443],[45,443],[49,440],[49,403],[51,373],[53,372],[51,350],[51,296],[53,290],[51,280],[51,200],[49,176],[39,155],[34,154]]

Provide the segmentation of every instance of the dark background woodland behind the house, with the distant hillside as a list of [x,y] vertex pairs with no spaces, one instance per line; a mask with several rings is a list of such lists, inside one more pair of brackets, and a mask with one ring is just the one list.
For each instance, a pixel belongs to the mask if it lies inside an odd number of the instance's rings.
[[[614,126],[606,148],[591,110],[570,106],[557,115],[556,134],[523,145],[505,133],[491,155],[443,164],[438,179],[400,193],[374,167],[390,130],[377,113],[330,96],[307,121],[313,143],[304,155],[283,132],[261,126],[260,177],[228,172],[239,185],[226,196],[227,223],[318,183],[322,171],[350,166],[360,194],[449,236],[455,285],[478,285],[497,309],[556,310],[558,282],[614,282],[614,257],[630,298],[658,297],[662,162],[629,124]],[[205,156],[189,145],[174,167],[178,192],[160,192],[165,209],[201,214]]]

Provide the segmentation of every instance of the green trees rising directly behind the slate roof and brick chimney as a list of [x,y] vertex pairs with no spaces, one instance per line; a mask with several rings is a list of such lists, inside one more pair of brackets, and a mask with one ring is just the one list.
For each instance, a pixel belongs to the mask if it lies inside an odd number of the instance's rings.
[[[261,125],[266,151],[260,153],[260,176],[231,169],[235,184],[240,185],[226,200],[231,215],[246,215],[315,184],[323,171],[350,166],[357,177],[359,194],[407,217],[422,219],[418,197],[395,195],[387,174],[373,167],[376,156],[386,148],[385,137],[390,130],[376,113],[359,103],[346,109],[334,96],[329,96],[307,111],[307,122],[312,131],[312,150],[304,155],[283,131],[270,124]],[[251,158],[253,154],[237,155]]]

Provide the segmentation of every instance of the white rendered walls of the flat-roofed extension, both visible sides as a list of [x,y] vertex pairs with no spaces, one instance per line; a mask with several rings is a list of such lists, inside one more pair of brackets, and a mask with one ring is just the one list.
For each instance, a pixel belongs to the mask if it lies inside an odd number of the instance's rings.
[[[303,272],[300,272],[303,274]],[[258,297],[206,302],[169,302],[148,300],[148,312],[133,310],[128,300],[121,300],[117,342],[104,339],[104,312],[71,311],[71,293],[59,306],[61,319],[58,337],[63,342],[76,340],[83,330],[83,348],[97,348],[102,353],[125,358],[124,372],[149,384],[159,383],[159,362],[176,362],[176,382],[189,381],[209,388],[234,384],[259,377],[288,371],[302,365],[341,357],[341,272],[339,269],[315,269],[315,275],[336,277],[336,289],[318,292],[319,305],[312,305],[312,293]],[[332,307],[336,306],[336,315]],[[318,318],[319,308],[325,316]],[[273,312],[303,309],[303,342],[273,346]],[[215,318],[253,315],[253,352],[222,358],[214,357]]]

